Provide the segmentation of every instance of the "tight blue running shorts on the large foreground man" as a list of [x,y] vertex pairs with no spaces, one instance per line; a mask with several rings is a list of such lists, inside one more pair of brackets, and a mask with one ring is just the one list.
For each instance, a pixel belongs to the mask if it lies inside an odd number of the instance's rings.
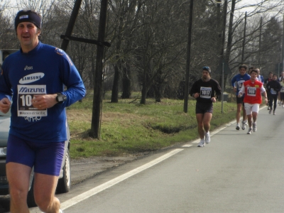
[[59,176],[65,142],[34,143],[9,134],[6,163],[21,163],[35,173]]

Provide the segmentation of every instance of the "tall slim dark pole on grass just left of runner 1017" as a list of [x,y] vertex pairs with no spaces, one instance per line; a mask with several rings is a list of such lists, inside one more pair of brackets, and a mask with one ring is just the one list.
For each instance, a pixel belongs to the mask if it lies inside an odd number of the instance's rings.
[[190,0],[190,19],[188,23],[188,35],[187,35],[187,65],[185,70],[185,96],[183,102],[183,111],[185,113],[187,113],[188,92],[189,92],[189,83],[190,83],[190,46],[191,46],[192,17],[193,17],[193,0]]

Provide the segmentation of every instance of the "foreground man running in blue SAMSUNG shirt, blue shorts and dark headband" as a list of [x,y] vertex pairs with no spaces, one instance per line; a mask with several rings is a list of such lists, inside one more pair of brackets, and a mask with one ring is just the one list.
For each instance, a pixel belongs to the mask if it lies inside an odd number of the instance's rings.
[[4,60],[0,75],[0,111],[11,107],[6,155],[11,213],[29,212],[33,167],[36,204],[43,212],[62,212],[55,188],[67,140],[65,107],[85,94],[68,55],[38,40],[40,28],[38,13],[18,11],[15,29],[21,49]]

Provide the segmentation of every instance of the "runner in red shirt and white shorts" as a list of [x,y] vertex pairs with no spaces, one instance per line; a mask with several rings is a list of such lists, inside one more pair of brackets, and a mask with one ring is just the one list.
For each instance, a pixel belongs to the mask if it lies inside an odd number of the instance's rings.
[[[256,132],[256,119],[258,116],[259,105],[262,103],[261,93],[266,97],[266,104],[268,103],[266,89],[263,87],[263,83],[256,80],[258,75],[257,70],[251,70],[251,80],[244,82],[243,86],[239,91],[238,97],[241,97],[243,94],[246,94],[244,97],[244,109],[246,109],[246,115],[248,116],[249,122],[249,131]],[[251,119],[253,119],[253,125],[251,128]]]

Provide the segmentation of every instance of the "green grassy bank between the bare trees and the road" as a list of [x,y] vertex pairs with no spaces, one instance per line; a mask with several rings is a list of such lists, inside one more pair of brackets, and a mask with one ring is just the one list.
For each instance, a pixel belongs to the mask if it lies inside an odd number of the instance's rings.
[[[183,101],[162,99],[156,103],[147,99],[124,99],[119,103],[104,100],[102,107],[101,140],[89,138],[92,121],[92,94],[83,102],[67,108],[70,125],[72,158],[99,155],[122,155],[145,151],[156,151],[198,138],[195,119],[195,100],[188,102],[188,112],[183,112]],[[221,102],[214,104],[211,129],[215,129],[235,118],[236,104]]]

